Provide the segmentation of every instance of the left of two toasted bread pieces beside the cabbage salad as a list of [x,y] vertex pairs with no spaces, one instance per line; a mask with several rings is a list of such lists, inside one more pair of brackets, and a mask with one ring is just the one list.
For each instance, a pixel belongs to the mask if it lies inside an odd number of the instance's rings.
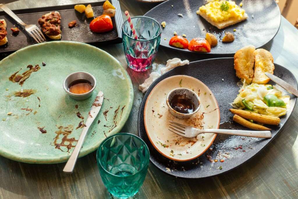
[[238,50],[234,55],[234,69],[237,77],[251,83],[254,77],[254,51],[253,45],[248,45]]

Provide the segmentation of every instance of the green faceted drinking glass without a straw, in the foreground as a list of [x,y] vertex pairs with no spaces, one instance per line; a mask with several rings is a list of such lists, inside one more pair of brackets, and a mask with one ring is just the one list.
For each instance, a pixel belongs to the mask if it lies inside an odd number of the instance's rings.
[[135,195],[145,180],[149,157],[148,146],[136,135],[106,138],[97,149],[97,165],[108,191],[118,198]]

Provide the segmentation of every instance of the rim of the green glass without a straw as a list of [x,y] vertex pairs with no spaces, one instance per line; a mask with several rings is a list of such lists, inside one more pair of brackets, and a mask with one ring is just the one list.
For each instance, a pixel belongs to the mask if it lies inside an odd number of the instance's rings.
[[111,135],[110,137],[105,138],[105,139],[103,140],[103,142],[99,145],[98,149],[97,149],[97,152],[96,152],[96,160],[98,161],[100,167],[101,167],[105,172],[107,172],[109,175],[112,175],[113,177],[117,177],[117,178],[130,178],[130,177],[132,177],[132,176],[134,176],[134,175],[137,175],[137,174],[139,174],[140,172],[142,172],[142,171],[145,169],[145,166],[142,167],[142,169],[140,169],[139,171],[137,171],[136,173],[134,173],[134,174],[132,174],[132,175],[119,176],[119,175],[112,174],[111,172],[108,172],[108,171],[103,167],[103,165],[101,164],[101,159],[98,158],[99,150],[100,150],[100,148],[102,148],[103,144],[105,144],[109,139],[111,139],[111,138],[113,138],[113,137],[115,137],[115,136],[117,136],[117,135],[130,135],[130,136],[132,136],[132,137],[135,137],[135,138],[139,139],[139,140],[143,143],[143,145],[145,146],[145,148],[146,148],[146,151],[147,151],[147,153],[148,153],[148,158],[147,158],[147,160],[146,160],[146,164],[149,164],[149,160],[150,160],[150,152],[149,152],[149,148],[148,148],[147,144],[146,144],[140,137],[138,137],[138,136],[136,136],[136,135],[134,135],[134,134],[131,134],[131,133],[116,133],[116,134],[114,134],[114,135]]

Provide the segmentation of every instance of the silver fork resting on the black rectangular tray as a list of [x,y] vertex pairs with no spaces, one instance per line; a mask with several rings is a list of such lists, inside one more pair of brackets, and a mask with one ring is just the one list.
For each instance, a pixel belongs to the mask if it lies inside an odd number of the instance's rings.
[[35,39],[37,43],[41,43],[46,40],[41,30],[33,24],[25,24],[18,16],[13,13],[8,7],[6,7],[4,4],[0,4],[0,8],[6,12],[9,16],[11,16],[15,21],[17,21],[22,26],[25,26],[25,30]]

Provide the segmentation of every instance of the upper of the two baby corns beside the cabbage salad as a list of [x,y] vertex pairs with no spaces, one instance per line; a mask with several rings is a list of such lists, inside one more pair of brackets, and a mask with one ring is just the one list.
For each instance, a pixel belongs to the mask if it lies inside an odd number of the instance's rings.
[[278,125],[280,123],[280,118],[270,116],[270,115],[262,115],[259,113],[249,112],[245,110],[240,109],[230,109],[230,111],[234,114],[237,114],[243,118],[257,121],[263,124],[272,124],[272,125]]

